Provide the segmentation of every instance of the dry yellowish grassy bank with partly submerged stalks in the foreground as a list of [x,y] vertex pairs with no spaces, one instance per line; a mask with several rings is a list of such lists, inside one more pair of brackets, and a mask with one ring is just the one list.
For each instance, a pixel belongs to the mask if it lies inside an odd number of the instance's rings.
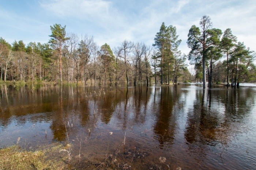
[[[109,133],[109,137],[113,133]],[[124,145],[118,145],[118,148],[111,146],[108,141],[108,148],[105,157],[81,154],[82,138],[77,140],[80,144],[79,153],[72,152],[75,145],[69,142],[51,143],[46,146],[37,146],[35,150],[22,149],[19,145],[0,149],[0,170],[12,169],[176,169],[175,165],[167,164],[165,157],[160,157],[159,161],[151,162],[146,157],[150,155],[148,151],[142,148],[125,148]],[[110,146],[109,146],[110,145]],[[82,148],[83,149],[83,148]],[[179,168],[180,170],[181,168]]]

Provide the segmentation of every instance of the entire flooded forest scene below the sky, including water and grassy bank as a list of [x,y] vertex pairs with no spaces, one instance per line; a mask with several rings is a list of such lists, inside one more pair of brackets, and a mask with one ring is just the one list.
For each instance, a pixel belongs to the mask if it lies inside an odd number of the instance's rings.
[[0,169],[256,169],[256,53],[230,28],[203,16],[188,54],[164,22],[152,45],[65,29],[0,37]]

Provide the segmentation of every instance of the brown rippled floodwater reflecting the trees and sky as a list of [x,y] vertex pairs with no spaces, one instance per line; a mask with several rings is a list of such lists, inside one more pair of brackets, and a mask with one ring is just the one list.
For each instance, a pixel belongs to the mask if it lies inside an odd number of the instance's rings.
[[69,141],[73,159],[111,154],[123,168],[256,169],[256,87],[3,86],[0,147],[18,137],[30,149]]

